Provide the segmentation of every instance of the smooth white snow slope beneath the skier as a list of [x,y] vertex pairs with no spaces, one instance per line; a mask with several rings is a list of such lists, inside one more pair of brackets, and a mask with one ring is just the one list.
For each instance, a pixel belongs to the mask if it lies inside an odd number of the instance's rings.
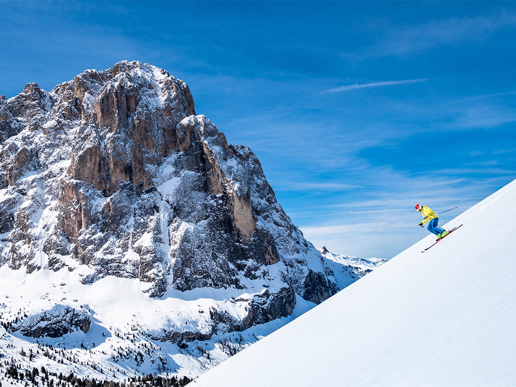
[[188,385],[514,385],[515,219],[513,181]]

